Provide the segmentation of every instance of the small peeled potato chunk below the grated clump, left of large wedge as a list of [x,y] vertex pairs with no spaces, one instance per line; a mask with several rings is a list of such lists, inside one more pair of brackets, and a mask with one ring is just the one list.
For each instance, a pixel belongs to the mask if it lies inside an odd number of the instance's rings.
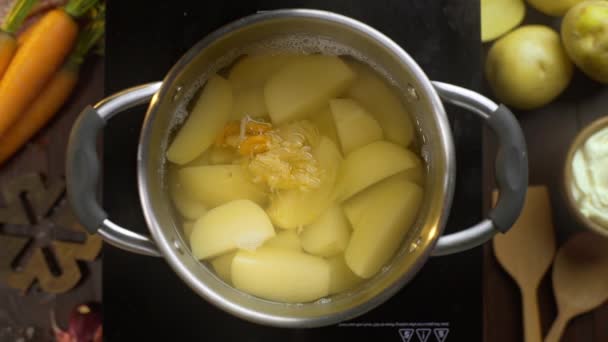
[[300,233],[302,248],[310,254],[329,257],[341,253],[350,239],[350,226],[342,208],[333,206]]

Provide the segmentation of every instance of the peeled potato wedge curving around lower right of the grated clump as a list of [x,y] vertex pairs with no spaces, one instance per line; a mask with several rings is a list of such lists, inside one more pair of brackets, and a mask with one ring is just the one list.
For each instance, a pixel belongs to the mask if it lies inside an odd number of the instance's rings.
[[312,153],[324,170],[321,186],[307,192],[296,189],[272,195],[267,212],[280,228],[295,229],[310,224],[333,202],[336,176],[342,161],[340,151],[336,144],[322,136]]

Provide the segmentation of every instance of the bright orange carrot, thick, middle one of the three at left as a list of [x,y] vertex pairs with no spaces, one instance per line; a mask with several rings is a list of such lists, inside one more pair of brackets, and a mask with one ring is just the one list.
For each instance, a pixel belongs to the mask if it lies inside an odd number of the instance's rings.
[[42,17],[0,81],[0,137],[42,91],[74,45],[75,18],[97,0],[70,0]]

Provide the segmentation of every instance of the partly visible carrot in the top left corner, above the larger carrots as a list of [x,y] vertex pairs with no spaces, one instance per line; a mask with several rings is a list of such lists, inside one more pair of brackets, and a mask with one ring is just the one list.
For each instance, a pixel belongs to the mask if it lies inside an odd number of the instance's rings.
[[0,78],[17,51],[15,32],[21,27],[37,0],[17,0],[0,27]]

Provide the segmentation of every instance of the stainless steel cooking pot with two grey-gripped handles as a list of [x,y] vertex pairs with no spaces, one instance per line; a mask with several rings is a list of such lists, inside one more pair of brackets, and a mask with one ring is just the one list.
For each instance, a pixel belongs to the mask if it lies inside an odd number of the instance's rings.
[[[173,218],[162,170],[172,118],[185,90],[194,87],[201,74],[228,51],[279,35],[302,33],[327,37],[363,52],[392,76],[417,121],[428,174],[418,220],[388,267],[349,293],[295,305],[274,303],[240,292],[192,257]],[[440,235],[452,203],[456,165],[452,135],[440,97],[478,114],[493,129],[500,143],[496,159],[498,205],[477,225],[446,236]],[[99,132],[112,116],[148,101],[137,154],[137,177],[141,206],[152,237],[114,224],[96,196]],[[361,315],[399,291],[431,255],[473,248],[497,232],[507,231],[519,216],[527,181],[524,138],[508,109],[475,92],[429,81],[395,42],[361,22],[335,13],[302,9],[262,12],[226,25],[190,49],[162,82],[127,89],[86,108],[72,129],[67,160],[69,199],[79,220],[90,232],[100,234],[119,248],[164,257],[196,293],[227,312],[282,327],[323,326]]]

